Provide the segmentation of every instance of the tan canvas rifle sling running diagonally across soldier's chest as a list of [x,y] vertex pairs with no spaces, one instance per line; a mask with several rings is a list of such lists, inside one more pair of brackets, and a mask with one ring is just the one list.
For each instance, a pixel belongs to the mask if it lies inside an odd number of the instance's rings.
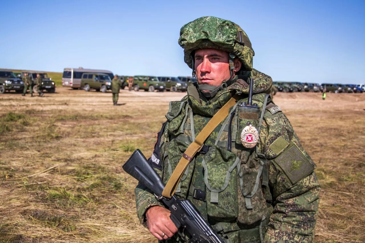
[[181,157],[176,168],[172,172],[171,177],[168,180],[164,191],[162,192],[162,196],[167,198],[172,197],[190,161],[193,160],[195,154],[199,152],[200,149],[203,147],[204,142],[208,138],[208,136],[214,131],[219,123],[228,116],[229,109],[236,104],[236,101],[238,99],[239,98],[237,96],[234,96],[230,100],[228,100],[228,102],[223,105],[223,107],[220,108],[217,113],[215,113],[212,119],[208,121],[207,125],[196,136],[195,140],[188,146],[188,148],[185,150],[185,153],[183,154],[183,157]]

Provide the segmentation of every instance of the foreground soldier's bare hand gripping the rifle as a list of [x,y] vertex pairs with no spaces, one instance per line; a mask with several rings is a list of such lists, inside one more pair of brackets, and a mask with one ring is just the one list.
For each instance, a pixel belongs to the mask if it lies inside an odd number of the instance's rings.
[[147,209],[147,227],[151,234],[159,240],[166,240],[177,232],[175,224],[170,219],[170,214],[168,209],[160,206]]

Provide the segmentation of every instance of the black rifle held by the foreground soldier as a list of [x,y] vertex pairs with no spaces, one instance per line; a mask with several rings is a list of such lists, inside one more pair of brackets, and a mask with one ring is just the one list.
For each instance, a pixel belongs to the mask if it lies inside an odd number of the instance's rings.
[[189,243],[223,243],[222,238],[214,231],[191,201],[178,199],[176,194],[171,198],[161,196],[165,185],[139,149],[133,152],[123,165],[123,169],[137,179],[140,184],[149,188],[157,200],[171,211],[170,219],[176,225],[176,228],[182,227],[191,236]]

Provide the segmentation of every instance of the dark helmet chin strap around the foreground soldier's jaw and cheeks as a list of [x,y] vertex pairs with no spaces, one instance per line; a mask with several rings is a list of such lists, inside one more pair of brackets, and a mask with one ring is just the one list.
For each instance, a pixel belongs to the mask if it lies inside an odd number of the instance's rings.
[[[195,85],[195,87],[199,91],[199,93],[205,98],[205,100],[207,101],[208,104],[209,104],[209,102],[207,99],[211,99],[218,93],[218,91],[223,90],[232,84],[235,57],[236,56],[233,53],[229,54],[230,78],[226,81],[223,81],[221,85],[215,86],[215,85],[209,85],[209,84],[198,84],[197,78],[196,78],[196,73],[195,73],[195,63],[194,63],[195,60],[192,55],[192,58],[191,58],[191,62],[192,62],[192,66],[193,66],[192,75],[195,78],[195,82],[193,84]],[[202,92],[201,90],[209,90],[209,92]]]

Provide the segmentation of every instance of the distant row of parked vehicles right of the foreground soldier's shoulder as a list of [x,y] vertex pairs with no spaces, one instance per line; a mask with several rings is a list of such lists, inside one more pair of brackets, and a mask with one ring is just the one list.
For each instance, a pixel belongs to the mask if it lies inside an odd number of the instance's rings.
[[273,85],[279,92],[333,92],[333,93],[362,93],[365,91],[364,84],[316,84],[302,82],[274,81]]

